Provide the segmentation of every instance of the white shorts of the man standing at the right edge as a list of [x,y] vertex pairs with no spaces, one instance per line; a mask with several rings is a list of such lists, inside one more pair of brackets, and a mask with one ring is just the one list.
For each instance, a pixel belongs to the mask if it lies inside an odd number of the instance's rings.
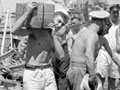
[[118,78],[120,76],[118,66],[113,62],[110,55],[101,49],[96,58],[96,73],[102,77]]

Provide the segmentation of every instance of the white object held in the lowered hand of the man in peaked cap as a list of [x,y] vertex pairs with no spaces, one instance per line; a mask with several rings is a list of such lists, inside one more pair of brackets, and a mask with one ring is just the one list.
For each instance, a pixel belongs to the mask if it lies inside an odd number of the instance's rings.
[[[96,76],[97,77],[97,76]],[[99,77],[97,77],[97,85],[95,87],[94,90],[103,90],[102,88],[102,82],[101,80],[99,79]],[[80,85],[80,90],[91,90],[90,86],[89,86],[89,74],[86,74],[84,77],[83,77],[83,80],[81,82],[81,85]]]

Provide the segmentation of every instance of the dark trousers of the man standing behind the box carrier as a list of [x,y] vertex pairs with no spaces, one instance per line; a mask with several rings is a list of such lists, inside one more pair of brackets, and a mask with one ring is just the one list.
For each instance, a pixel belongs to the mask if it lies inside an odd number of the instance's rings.
[[69,64],[70,58],[68,54],[62,60],[58,60],[55,57],[52,60],[58,90],[67,90],[68,88],[66,73],[69,69]]

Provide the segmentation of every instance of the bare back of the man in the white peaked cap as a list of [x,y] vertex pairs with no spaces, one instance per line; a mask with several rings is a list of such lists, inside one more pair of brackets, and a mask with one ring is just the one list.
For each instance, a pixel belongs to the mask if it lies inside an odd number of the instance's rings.
[[86,49],[89,48],[89,43],[92,41],[95,43],[94,49],[97,53],[100,48],[98,35],[88,28],[81,32],[73,45],[71,61],[86,63]]

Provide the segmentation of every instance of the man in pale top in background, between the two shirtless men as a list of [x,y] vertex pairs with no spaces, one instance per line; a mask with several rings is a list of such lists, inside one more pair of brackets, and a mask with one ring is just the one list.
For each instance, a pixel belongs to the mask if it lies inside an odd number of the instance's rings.
[[83,18],[79,14],[73,14],[71,16],[71,24],[69,27],[69,32],[67,35],[67,44],[68,44],[68,52],[69,56],[71,56],[72,46],[74,41],[76,40],[78,34],[85,29],[85,25],[83,24]]

